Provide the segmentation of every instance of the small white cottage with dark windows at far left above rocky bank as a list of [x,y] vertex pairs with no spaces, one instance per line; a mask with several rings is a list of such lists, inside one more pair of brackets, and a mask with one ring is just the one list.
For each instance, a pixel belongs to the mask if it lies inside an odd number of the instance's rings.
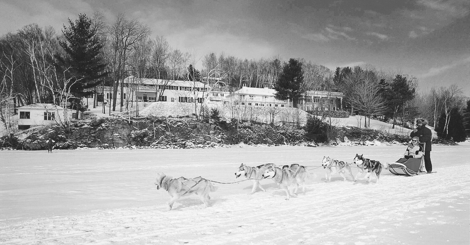
[[[33,126],[51,125],[70,121],[75,118],[76,111],[64,109],[55,104],[37,103],[16,108],[18,111],[18,129],[24,130]],[[65,113],[67,110],[67,113]],[[67,120],[65,119],[67,116]],[[80,114],[78,115],[80,118]]]

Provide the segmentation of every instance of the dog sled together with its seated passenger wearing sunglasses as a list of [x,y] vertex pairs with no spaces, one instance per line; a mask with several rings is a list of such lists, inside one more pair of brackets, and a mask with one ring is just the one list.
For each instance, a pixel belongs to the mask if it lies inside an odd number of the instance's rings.
[[421,145],[417,136],[411,139],[403,158],[388,164],[388,169],[396,175],[417,175],[423,166],[424,145]]

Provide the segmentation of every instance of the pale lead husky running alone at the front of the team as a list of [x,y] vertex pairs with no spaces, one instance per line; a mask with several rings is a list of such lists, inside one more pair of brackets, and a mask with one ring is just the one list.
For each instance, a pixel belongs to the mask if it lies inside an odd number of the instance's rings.
[[155,184],[157,185],[157,190],[160,188],[167,190],[168,194],[172,197],[168,202],[168,210],[172,209],[173,203],[180,197],[190,195],[192,193],[198,195],[204,203],[204,206],[207,207],[209,199],[211,199],[211,197],[209,197],[209,192],[216,190],[210,181],[202,178],[201,176],[193,179],[186,179],[184,177],[172,179],[172,177],[166,176],[164,173],[158,173]]

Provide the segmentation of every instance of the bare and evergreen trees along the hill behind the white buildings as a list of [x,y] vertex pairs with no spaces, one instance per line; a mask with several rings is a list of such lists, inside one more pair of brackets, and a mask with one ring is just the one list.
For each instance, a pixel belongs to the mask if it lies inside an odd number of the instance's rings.
[[[277,99],[292,100],[294,106],[304,99],[305,91],[341,92],[342,107],[369,121],[380,118],[390,120],[393,127],[413,127],[416,118],[426,118],[439,136],[453,140],[465,135],[464,131],[457,135],[457,128],[470,129],[469,101],[465,103],[454,85],[418,93],[414,77],[371,65],[330,71],[303,58],[248,60],[224,53],[198,57],[195,51],[172,48],[163,36],[150,34],[149,27],[137,19],[119,14],[107,23],[101,13],[69,19],[61,34],[38,24],[4,34],[0,37],[2,124],[7,129],[11,126],[11,104],[55,103],[83,110],[81,99],[97,93],[100,86],[112,88],[110,110],[123,111],[124,98],[117,104],[118,88],[123,95],[124,79],[133,75],[201,81],[214,90],[230,92],[243,86],[269,87],[276,90]],[[201,71],[193,66],[199,61]]]

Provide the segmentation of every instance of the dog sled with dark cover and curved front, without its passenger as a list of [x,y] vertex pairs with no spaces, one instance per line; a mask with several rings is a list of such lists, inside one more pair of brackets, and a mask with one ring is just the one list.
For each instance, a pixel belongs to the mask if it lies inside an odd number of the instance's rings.
[[[421,144],[425,149],[426,143]],[[424,167],[424,151],[421,158],[400,158],[394,163],[388,163],[388,170],[395,175],[415,176],[423,171]]]

